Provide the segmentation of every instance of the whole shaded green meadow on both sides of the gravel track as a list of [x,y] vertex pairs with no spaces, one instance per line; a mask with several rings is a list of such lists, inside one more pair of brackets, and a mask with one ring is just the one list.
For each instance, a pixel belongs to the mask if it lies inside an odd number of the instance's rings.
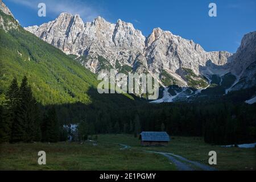
[[[118,143],[131,146],[120,150]],[[38,151],[46,151],[47,164],[37,163]],[[171,152],[208,164],[209,151],[217,152],[218,170],[255,170],[255,148],[211,146],[199,137],[172,137],[166,147],[141,147],[133,135],[98,135],[98,145],[84,143],[1,144],[0,169],[11,170],[175,170],[166,157],[145,151]]]

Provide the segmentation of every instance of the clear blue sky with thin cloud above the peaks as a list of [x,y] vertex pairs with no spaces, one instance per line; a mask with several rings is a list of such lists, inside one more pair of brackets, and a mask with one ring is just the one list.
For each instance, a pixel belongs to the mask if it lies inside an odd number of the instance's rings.
[[[3,0],[23,27],[40,25],[62,12],[80,14],[84,22],[102,16],[134,24],[143,35],[160,27],[185,39],[192,39],[206,51],[236,52],[242,36],[256,31],[255,0]],[[44,2],[47,16],[38,16]],[[208,15],[208,5],[217,5],[217,17]]]

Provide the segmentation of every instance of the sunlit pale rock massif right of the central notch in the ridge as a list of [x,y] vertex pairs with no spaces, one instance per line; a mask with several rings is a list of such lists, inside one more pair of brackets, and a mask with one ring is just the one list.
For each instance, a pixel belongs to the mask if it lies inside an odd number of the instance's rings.
[[144,55],[148,60],[149,69],[153,72],[166,69],[175,73],[180,68],[189,68],[198,75],[199,67],[204,67],[207,61],[224,65],[232,54],[225,51],[206,52],[192,40],[155,28],[147,38]]

